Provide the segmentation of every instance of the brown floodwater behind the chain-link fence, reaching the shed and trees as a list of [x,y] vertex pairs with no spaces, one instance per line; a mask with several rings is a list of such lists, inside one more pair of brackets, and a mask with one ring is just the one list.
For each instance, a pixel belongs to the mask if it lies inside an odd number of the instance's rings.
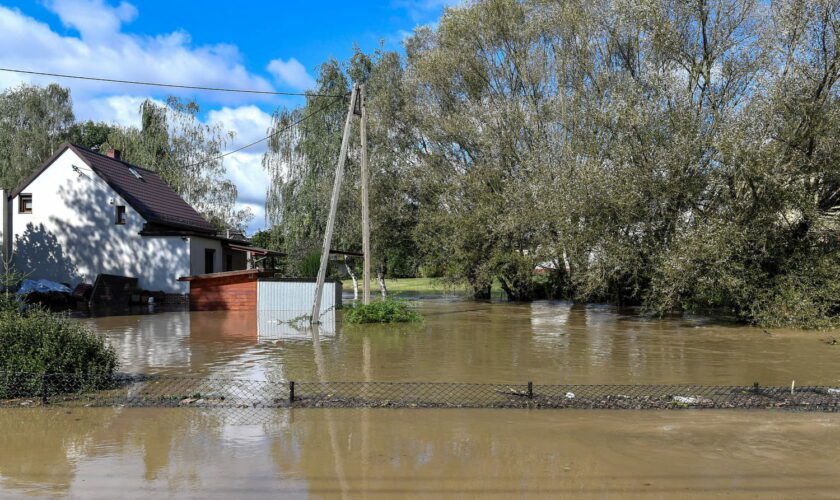
[[[416,325],[258,333],[255,313],[168,312],[88,320],[121,369],[255,380],[833,385],[840,333],[702,318],[643,319],[614,308],[424,300]],[[340,314],[340,313],[339,313]],[[262,332],[262,330],[259,330]]]

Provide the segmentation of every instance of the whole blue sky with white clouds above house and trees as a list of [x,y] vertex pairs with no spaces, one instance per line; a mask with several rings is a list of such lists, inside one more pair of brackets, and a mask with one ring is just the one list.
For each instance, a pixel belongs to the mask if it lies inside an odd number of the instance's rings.
[[[299,92],[310,88],[317,67],[347,59],[358,45],[400,49],[420,25],[435,23],[456,0],[379,2],[212,2],[178,0],[0,0],[0,66],[187,85]],[[0,73],[0,89],[49,78]],[[154,89],[58,80],[73,91],[77,118],[138,123],[146,98],[174,93],[196,99],[202,119],[236,133],[233,149],[265,135],[277,106],[290,97]],[[226,161],[239,202],[264,225],[267,178],[262,146]]]

